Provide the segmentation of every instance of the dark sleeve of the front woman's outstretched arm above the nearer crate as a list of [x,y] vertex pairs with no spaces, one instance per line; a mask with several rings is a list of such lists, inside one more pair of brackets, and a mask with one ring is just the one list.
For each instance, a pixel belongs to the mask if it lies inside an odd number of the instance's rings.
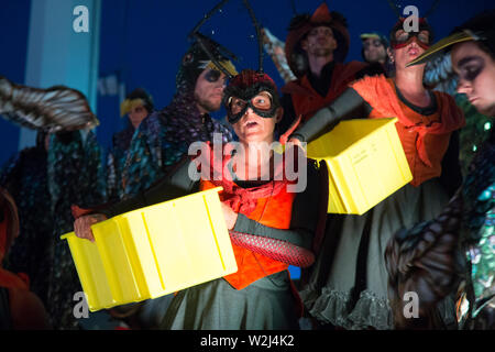
[[139,193],[132,198],[110,205],[99,212],[106,215],[107,218],[112,218],[131,210],[153,206],[197,191],[199,183],[191,180],[188,174],[190,163],[188,158],[184,160],[177,164],[174,170],[148,189]]

